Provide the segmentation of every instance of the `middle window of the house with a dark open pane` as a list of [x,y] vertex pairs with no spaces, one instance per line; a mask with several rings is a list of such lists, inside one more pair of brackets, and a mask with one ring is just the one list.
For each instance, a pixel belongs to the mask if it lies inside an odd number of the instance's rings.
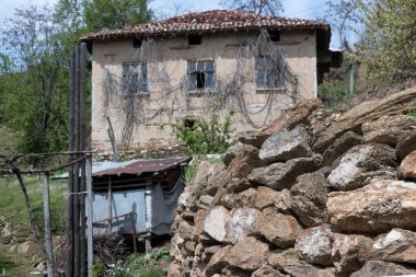
[[188,60],[188,89],[198,90],[213,88],[215,85],[213,60]]

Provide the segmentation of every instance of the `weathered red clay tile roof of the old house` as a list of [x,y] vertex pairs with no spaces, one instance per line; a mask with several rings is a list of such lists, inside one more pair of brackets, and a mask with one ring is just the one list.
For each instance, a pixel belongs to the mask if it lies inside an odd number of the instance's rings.
[[154,23],[125,26],[117,30],[101,30],[85,34],[80,41],[106,39],[122,36],[153,36],[188,33],[238,32],[269,28],[321,28],[330,30],[325,22],[264,16],[239,11],[215,10],[192,12]]

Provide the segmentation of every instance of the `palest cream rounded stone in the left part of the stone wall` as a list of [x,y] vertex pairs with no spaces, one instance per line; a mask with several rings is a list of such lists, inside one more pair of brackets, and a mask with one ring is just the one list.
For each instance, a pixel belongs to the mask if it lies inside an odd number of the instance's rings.
[[222,206],[213,207],[204,219],[204,230],[216,241],[226,242],[226,224],[230,212]]

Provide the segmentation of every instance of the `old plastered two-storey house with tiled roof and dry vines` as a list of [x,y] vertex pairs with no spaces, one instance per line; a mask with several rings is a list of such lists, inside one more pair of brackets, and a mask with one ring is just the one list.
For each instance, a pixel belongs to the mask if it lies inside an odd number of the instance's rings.
[[107,125],[129,148],[169,146],[170,123],[232,112],[236,131],[258,128],[316,96],[340,60],[323,22],[238,11],[188,13],[81,37],[92,53],[92,141],[109,149]]

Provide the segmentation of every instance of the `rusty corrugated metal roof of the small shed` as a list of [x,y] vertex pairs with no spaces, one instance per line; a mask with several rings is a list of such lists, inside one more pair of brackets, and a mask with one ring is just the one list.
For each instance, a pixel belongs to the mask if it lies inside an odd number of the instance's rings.
[[[151,173],[165,171],[178,164],[190,161],[192,157],[178,157],[167,159],[131,160],[125,162],[99,162],[92,165],[92,176]],[[54,178],[68,178],[68,173]]]

